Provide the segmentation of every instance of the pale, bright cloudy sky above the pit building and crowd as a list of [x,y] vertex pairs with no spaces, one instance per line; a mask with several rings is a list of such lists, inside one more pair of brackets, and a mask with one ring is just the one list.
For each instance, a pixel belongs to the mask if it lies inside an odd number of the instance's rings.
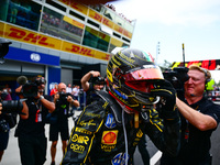
[[118,0],[110,4],[136,20],[131,47],[150,52],[157,64],[183,62],[183,44],[186,62],[220,58],[220,0]]

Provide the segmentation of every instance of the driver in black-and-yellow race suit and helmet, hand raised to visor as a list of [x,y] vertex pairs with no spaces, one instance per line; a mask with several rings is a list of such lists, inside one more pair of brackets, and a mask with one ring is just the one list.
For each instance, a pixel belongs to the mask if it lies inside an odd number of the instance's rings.
[[[132,164],[144,133],[163,152],[178,152],[180,122],[175,90],[147,54],[124,48],[113,55],[107,68],[107,88],[108,92],[97,91],[99,100],[81,112],[63,165]],[[161,105],[160,116],[155,103]]]

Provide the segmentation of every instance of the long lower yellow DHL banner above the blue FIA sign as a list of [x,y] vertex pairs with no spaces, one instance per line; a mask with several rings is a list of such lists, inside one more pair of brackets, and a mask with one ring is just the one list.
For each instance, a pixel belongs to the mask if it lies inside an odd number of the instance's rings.
[[0,22],[0,37],[109,61],[109,54]]

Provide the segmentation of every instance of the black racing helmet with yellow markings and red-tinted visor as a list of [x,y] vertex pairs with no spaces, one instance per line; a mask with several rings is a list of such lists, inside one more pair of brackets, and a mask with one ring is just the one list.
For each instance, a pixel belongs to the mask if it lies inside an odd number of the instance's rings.
[[154,85],[164,79],[160,67],[154,64],[150,53],[140,50],[112,52],[107,67],[109,94],[125,106],[128,112],[145,111],[160,100],[160,97],[151,95]]

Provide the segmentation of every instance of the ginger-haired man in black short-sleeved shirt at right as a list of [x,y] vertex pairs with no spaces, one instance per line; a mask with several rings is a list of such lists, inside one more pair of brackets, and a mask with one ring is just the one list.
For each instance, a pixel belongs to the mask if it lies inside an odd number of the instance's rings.
[[210,136],[220,119],[220,106],[205,96],[206,85],[211,78],[209,70],[189,66],[189,79],[185,82],[185,98],[177,98],[182,113],[182,147],[177,157],[162,156],[162,165],[211,165]]

